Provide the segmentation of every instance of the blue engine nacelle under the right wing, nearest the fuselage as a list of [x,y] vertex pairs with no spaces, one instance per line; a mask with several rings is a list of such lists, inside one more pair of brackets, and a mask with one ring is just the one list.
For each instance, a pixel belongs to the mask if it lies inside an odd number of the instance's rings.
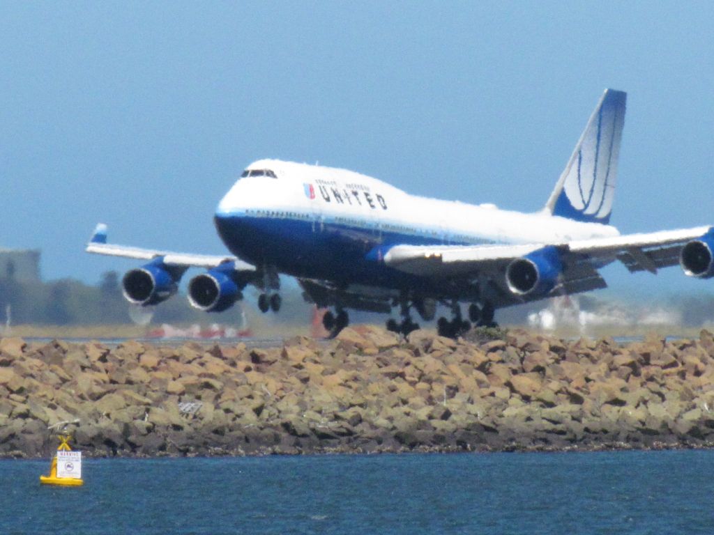
[[553,290],[562,272],[558,250],[544,247],[512,260],[506,267],[506,283],[516,295],[545,295]]

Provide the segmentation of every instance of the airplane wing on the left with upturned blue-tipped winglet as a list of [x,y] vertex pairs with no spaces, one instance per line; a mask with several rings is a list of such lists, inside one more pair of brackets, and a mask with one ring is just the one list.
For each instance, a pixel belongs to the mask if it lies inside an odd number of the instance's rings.
[[163,258],[166,265],[176,267],[217,267],[218,265],[232,262],[238,271],[256,271],[254,265],[243,262],[234,256],[213,256],[213,255],[193,255],[189,253],[174,253],[154,249],[142,249],[130,247],[128,245],[116,245],[106,242],[106,225],[99,224],[94,230],[89,243],[86,246],[87,253],[97,255],[119,256],[123,258],[135,258],[136,260],[154,260]]

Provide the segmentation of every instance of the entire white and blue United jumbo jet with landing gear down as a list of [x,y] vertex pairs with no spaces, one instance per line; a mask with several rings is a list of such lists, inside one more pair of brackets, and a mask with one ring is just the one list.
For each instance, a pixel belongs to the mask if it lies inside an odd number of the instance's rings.
[[[124,275],[124,297],[156,305],[176,293],[189,267],[188,300],[221,312],[260,290],[262,312],[281,307],[279,275],[296,277],[308,302],[328,308],[336,335],[347,310],[391,314],[389,330],[418,328],[438,305],[438,333],[456,337],[496,325],[496,310],[606,287],[598,270],[619,260],[656,274],[714,276],[714,227],[622,235],[610,225],[626,93],[605,90],[555,188],[535,213],[437,200],[351,170],[260,160],[218,203],[216,230],[231,255],[193,255],[107,243],[98,225],[86,251],[147,263]],[[466,314],[462,310],[466,308]]]

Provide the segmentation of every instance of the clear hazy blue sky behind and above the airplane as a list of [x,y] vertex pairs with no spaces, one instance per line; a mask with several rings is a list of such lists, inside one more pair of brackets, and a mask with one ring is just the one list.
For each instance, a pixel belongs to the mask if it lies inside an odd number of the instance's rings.
[[[714,4],[0,2],[0,245],[94,284],[110,240],[225,252],[251,161],[539,210],[605,88],[628,92],[611,223],[714,224]],[[714,294],[678,268],[611,292]]]

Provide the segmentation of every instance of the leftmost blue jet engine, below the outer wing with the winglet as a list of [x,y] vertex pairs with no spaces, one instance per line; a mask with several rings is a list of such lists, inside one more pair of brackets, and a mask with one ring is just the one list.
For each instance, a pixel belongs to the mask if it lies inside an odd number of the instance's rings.
[[127,271],[121,280],[124,298],[134,305],[158,305],[176,293],[182,274],[166,266],[163,258]]

